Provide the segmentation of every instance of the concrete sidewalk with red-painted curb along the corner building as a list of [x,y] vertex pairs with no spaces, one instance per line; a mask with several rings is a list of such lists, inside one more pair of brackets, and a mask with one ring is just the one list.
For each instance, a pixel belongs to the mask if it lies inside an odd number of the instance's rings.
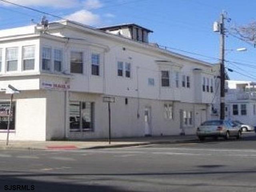
[[116,148],[128,146],[141,146],[150,144],[168,144],[178,142],[189,142],[196,140],[196,135],[186,136],[156,136],[140,138],[113,138],[111,144],[107,140],[76,140],[76,141],[0,141],[0,150],[21,150],[21,149],[38,149],[38,150],[76,150],[76,149],[99,149],[99,148]]

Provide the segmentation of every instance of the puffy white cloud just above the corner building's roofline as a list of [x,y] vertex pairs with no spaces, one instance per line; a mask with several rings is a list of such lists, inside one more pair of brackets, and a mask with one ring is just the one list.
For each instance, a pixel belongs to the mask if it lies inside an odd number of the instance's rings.
[[95,25],[100,22],[100,16],[97,14],[93,14],[88,10],[80,10],[68,16],[65,16],[64,18],[86,25]]

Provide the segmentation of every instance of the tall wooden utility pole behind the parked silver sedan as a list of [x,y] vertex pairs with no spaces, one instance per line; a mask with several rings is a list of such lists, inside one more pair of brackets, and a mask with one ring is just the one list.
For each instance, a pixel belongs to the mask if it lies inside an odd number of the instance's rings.
[[224,12],[220,14],[220,120],[225,119],[225,27]]

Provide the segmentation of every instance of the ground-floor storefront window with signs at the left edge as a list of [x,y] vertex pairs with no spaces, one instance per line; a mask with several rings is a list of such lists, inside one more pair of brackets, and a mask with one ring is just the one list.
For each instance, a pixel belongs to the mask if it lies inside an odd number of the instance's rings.
[[[15,130],[15,102],[13,102],[10,117],[10,130]],[[7,130],[8,115],[10,114],[10,102],[0,102],[0,130]]]

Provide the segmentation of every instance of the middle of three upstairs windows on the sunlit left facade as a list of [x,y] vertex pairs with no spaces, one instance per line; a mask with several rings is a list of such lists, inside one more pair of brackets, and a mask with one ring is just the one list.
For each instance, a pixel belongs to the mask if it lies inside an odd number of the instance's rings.
[[6,71],[18,70],[18,47],[6,48]]

